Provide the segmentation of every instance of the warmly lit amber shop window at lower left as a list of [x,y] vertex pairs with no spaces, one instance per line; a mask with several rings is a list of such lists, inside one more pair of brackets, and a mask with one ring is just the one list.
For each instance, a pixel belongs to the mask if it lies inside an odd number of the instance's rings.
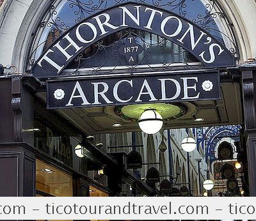
[[36,196],[72,197],[72,176],[36,160]]

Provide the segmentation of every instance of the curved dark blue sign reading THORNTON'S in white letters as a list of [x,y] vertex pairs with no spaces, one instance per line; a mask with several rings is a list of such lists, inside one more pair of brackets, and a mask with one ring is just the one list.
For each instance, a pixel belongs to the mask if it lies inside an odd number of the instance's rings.
[[211,34],[170,11],[126,3],[81,21],[52,43],[32,68],[35,77],[56,77],[93,43],[122,29],[157,34],[188,50],[207,68],[234,66],[234,56]]

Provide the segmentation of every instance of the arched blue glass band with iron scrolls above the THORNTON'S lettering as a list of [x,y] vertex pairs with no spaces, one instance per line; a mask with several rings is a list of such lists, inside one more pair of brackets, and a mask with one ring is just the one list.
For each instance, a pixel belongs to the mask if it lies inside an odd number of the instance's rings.
[[[95,13],[127,0],[57,0],[38,26],[29,56],[29,67],[61,34]],[[237,56],[236,41],[225,13],[216,0],[129,0],[172,11],[205,29]]]

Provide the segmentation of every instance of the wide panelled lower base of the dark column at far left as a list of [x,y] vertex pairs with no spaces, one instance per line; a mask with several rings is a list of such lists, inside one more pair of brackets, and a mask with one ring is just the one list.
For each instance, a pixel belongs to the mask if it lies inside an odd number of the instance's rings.
[[35,196],[35,153],[25,143],[0,144],[0,197]]

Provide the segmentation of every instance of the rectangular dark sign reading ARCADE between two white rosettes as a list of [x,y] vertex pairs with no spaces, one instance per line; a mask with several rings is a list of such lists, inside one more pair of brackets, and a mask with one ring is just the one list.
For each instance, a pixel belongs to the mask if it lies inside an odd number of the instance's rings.
[[220,99],[216,71],[50,80],[48,109]]

